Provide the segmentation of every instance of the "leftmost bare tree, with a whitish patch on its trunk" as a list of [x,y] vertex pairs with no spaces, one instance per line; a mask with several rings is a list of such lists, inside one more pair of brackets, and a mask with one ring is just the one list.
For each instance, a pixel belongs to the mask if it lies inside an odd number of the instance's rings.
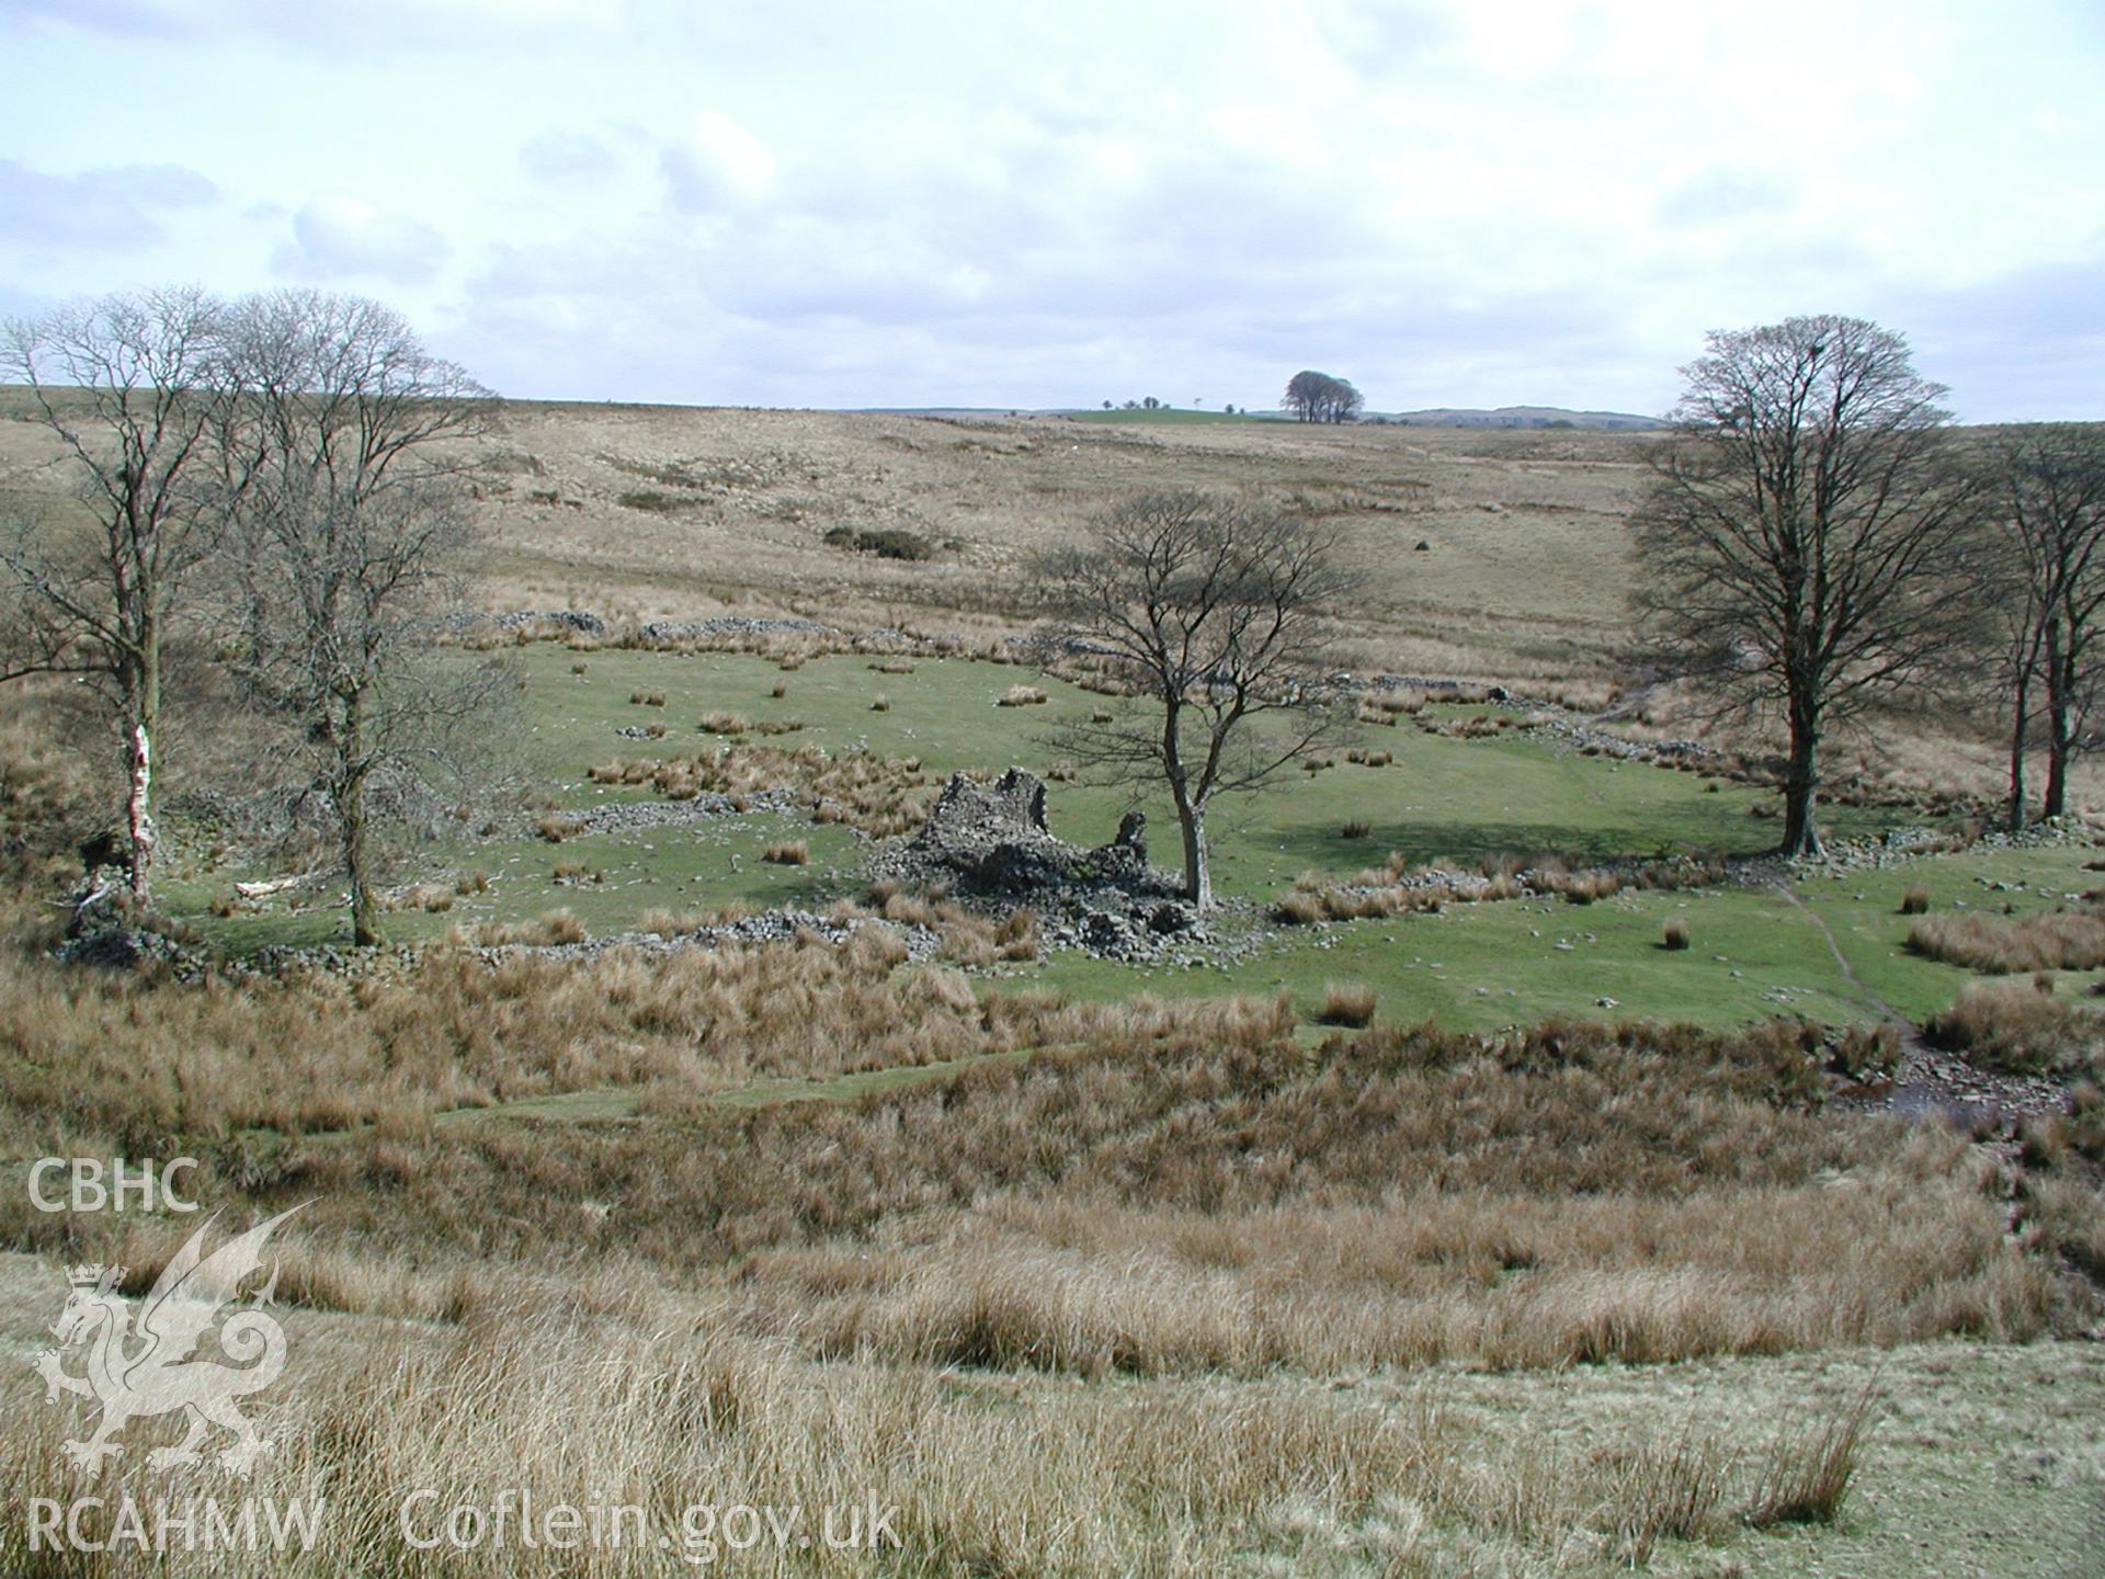
[[25,512],[0,541],[13,604],[0,678],[74,674],[109,707],[139,903],[156,853],[162,663],[227,507],[215,467],[229,411],[221,326],[219,301],[173,288],[17,320],[0,341],[0,375],[29,387],[78,503]]

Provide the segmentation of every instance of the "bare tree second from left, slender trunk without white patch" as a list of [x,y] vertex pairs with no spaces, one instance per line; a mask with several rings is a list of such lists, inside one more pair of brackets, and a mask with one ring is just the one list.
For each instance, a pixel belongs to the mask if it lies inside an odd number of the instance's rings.
[[259,297],[229,339],[248,402],[227,451],[238,667],[297,731],[299,787],[328,808],[352,935],[370,945],[375,787],[444,760],[507,684],[436,655],[472,543],[448,442],[484,427],[493,396],[356,297]]

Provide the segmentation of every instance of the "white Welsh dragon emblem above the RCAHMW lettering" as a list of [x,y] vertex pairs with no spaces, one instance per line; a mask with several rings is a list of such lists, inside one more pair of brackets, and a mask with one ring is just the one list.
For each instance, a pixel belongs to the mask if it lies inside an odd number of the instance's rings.
[[[242,1282],[263,1267],[263,1242],[272,1230],[301,1206],[278,1213],[204,1255],[204,1236],[219,1221],[213,1213],[162,1267],[137,1310],[137,1324],[131,1303],[118,1293],[124,1267],[67,1267],[74,1288],[51,1328],[59,1347],[40,1352],[34,1368],[44,1377],[48,1402],[59,1402],[63,1392],[95,1398],[101,1406],[95,1436],[65,1442],[65,1457],[76,1470],[95,1474],[103,1459],[120,1453],[122,1444],[114,1438],[131,1421],[177,1411],[189,1415],[189,1434],[175,1446],[147,1455],[156,1470],[198,1463],[204,1457],[198,1444],[213,1425],[234,1432],[217,1459],[238,1476],[248,1476],[257,1459],[272,1451],[274,1442],[242,1417],[236,1402],[263,1392],[284,1371],[284,1331],[261,1310],[278,1286],[276,1265],[255,1301],[227,1312],[219,1326],[219,1350],[234,1364],[194,1360],[192,1354],[213,1322],[221,1320],[223,1307],[238,1297]],[[67,1375],[63,1358],[82,1345],[86,1368],[78,1377]]]

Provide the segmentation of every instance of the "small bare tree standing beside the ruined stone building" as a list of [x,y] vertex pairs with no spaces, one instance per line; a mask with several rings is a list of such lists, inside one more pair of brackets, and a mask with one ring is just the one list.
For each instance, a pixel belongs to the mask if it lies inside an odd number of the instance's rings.
[[1061,749],[1109,783],[1168,787],[1185,897],[1210,907],[1215,796],[1263,785],[1337,726],[1324,619],[1351,579],[1335,535],[1250,503],[1145,493],[1040,573],[1061,634],[1103,655],[1141,703],[1071,724]]

